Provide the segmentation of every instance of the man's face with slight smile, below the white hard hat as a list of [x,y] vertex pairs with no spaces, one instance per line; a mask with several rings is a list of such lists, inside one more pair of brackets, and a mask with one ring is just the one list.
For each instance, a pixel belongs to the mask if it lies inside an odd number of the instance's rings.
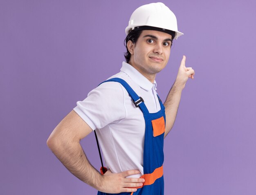
[[170,34],[161,31],[142,31],[131,47],[133,50],[129,63],[144,76],[160,72],[169,60],[171,38]]

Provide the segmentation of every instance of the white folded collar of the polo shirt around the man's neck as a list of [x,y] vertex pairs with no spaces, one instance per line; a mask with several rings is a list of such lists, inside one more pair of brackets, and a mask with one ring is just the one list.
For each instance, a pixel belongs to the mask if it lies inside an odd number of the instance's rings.
[[151,83],[144,75],[142,75],[136,68],[132,67],[132,65],[123,62],[121,67],[121,72],[126,73],[135,83],[137,83],[140,87],[142,87],[144,90],[157,90],[157,83],[154,81],[154,83]]

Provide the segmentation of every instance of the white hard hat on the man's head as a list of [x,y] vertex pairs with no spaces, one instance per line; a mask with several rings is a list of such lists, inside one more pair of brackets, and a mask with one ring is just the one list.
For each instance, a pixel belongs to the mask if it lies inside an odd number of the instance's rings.
[[175,37],[173,39],[177,39],[179,36],[183,35],[182,32],[178,31],[176,16],[161,2],[150,3],[138,7],[130,17],[129,25],[125,29],[126,35],[130,32],[130,29],[155,29],[168,34],[170,34],[170,31],[174,31]]

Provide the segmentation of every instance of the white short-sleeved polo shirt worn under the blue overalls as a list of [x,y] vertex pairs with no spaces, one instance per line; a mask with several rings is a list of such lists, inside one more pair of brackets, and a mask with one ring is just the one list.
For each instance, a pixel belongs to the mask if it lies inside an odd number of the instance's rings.
[[[157,83],[151,83],[126,62],[120,70],[110,78],[124,79],[144,99],[150,113],[158,112],[161,108],[156,93]],[[107,168],[112,173],[138,169],[141,174],[130,177],[143,175],[145,120],[126,89],[117,82],[102,83],[76,104],[74,111],[97,131]]]

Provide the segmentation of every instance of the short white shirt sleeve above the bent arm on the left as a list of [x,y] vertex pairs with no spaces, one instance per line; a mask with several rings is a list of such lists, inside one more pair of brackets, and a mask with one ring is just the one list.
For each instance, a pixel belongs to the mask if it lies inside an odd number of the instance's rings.
[[101,129],[126,117],[124,90],[120,83],[102,83],[88,93],[83,101],[77,101],[73,109],[92,128]]

